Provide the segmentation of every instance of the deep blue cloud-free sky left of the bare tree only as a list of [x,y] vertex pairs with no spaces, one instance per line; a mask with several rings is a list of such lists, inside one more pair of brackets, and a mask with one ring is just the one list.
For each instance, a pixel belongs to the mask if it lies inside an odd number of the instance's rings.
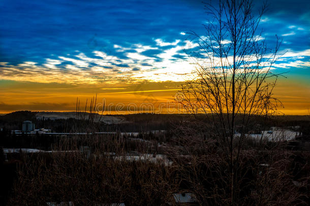
[[[115,53],[113,45],[154,45],[198,30],[203,10],[185,1],[2,1],[1,61],[41,63],[52,55]],[[187,12],[190,11],[190,12]],[[195,18],[193,18],[193,15]]]

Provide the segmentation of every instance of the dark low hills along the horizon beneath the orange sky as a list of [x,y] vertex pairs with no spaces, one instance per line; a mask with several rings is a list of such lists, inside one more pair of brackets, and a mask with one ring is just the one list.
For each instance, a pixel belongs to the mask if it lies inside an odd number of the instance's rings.
[[[182,119],[187,119],[191,115],[188,114],[149,114],[149,113],[138,113],[138,114],[127,114],[127,115],[100,115],[100,114],[91,114],[92,118],[94,118],[95,122],[100,121],[106,124],[121,124],[121,123],[145,123],[145,122],[157,122],[164,123],[169,121],[180,121]],[[54,111],[15,111],[12,113],[8,113],[5,115],[0,115],[0,120],[3,122],[22,122],[25,120],[36,122],[37,120],[42,120],[43,117],[45,120],[68,120],[68,119],[76,119],[76,112],[54,112]],[[206,118],[204,114],[196,115],[198,119],[204,121]],[[88,120],[89,113],[88,112],[80,112],[78,115],[78,119],[80,120]],[[238,122],[238,116],[236,117],[236,121]],[[253,122],[259,123],[264,121],[261,120],[260,117],[257,119],[254,118]],[[278,127],[286,127],[286,126],[296,126],[299,125],[301,127],[310,126],[310,116],[309,115],[278,115],[273,116],[268,121],[268,125],[270,126],[278,126]]]

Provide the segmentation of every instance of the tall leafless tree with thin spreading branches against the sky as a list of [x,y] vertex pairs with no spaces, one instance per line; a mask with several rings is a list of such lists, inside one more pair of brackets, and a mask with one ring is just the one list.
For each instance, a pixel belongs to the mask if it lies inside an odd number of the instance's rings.
[[195,61],[195,75],[181,87],[184,99],[180,102],[188,112],[206,115],[208,133],[220,143],[231,175],[231,204],[235,203],[236,176],[247,126],[253,117],[266,119],[277,113],[277,106],[281,105],[272,96],[281,75],[272,73],[272,65],[280,57],[277,52],[281,40],[276,36],[275,47],[267,48],[259,28],[267,5],[264,3],[257,14],[254,8],[251,0],[205,4],[209,16],[204,24],[205,35],[189,33],[198,45],[196,51],[189,53]]

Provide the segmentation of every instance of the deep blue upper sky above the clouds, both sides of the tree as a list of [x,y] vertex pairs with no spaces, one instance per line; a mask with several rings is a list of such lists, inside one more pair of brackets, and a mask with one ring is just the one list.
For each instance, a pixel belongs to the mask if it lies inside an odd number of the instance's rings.
[[[259,5],[258,3],[256,3]],[[282,49],[309,48],[307,1],[270,1],[261,25],[266,36],[284,37]],[[102,50],[121,58],[113,45],[156,47],[154,40],[184,40],[181,32],[203,34],[201,1],[1,1],[0,62],[45,63],[46,58]],[[182,45],[182,42],[179,43]],[[152,49],[144,54],[159,54]]]

